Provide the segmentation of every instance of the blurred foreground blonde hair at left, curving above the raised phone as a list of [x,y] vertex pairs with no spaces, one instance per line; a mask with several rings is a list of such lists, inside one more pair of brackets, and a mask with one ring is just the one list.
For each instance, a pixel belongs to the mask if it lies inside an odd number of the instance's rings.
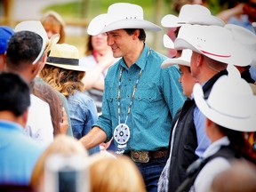
[[30,186],[32,188],[37,189],[40,187],[40,180],[44,176],[44,165],[46,159],[52,154],[57,153],[68,156],[76,154],[84,156],[84,158],[88,156],[87,150],[81,142],[68,135],[57,135],[36,162],[30,179]]

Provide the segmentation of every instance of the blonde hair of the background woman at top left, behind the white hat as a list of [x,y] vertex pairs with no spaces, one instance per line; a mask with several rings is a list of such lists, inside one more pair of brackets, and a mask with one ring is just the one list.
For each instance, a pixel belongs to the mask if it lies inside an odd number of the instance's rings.
[[53,11],[45,12],[41,18],[41,23],[43,26],[44,26],[44,23],[52,23],[54,25],[60,25],[60,40],[58,41],[58,44],[63,44],[65,42],[66,24],[58,12],[53,12]]

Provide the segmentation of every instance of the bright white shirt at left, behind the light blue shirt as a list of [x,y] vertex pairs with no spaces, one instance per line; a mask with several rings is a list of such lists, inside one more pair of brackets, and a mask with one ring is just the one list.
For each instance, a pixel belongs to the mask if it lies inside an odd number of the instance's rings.
[[53,140],[52,116],[48,103],[30,94],[31,105],[28,108],[28,123],[25,131],[28,136],[43,145]]

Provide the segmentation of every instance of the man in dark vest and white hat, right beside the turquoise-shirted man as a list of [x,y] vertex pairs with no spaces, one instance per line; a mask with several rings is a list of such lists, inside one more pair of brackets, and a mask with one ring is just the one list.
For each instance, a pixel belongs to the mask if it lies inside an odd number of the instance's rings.
[[[188,99],[185,100],[183,107],[180,108],[173,118],[168,148],[168,160],[158,181],[157,191],[159,192],[168,191],[168,188],[170,188],[170,191],[174,191],[174,188],[178,188],[180,183],[185,179],[188,165],[192,164],[198,157],[195,153],[197,148],[196,128],[193,123],[193,118],[191,118],[191,114],[193,114],[196,106],[191,96],[193,86],[197,82],[196,78],[191,76],[191,55],[192,51],[189,49],[179,50],[177,51],[176,58],[164,60],[161,65],[161,68],[168,68],[175,64],[179,65],[181,74],[180,84],[183,88],[183,94]],[[182,164],[182,166],[180,164]],[[170,172],[172,172],[172,174],[170,174]],[[172,180],[170,185],[169,180]]]

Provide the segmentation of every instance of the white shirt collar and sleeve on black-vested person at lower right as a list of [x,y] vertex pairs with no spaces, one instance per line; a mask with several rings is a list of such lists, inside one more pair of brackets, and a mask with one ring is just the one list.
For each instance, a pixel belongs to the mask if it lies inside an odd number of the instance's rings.
[[[216,140],[209,146],[209,148],[204,151],[203,157],[206,158],[208,156],[212,156],[220,149],[221,146],[228,146],[228,144],[228,137]],[[230,168],[230,163],[226,158],[216,157],[212,159],[209,163],[205,164],[204,168],[201,170],[201,172],[199,172],[196,177],[194,186],[190,189],[190,191],[210,191],[214,177],[218,173],[228,170],[228,168]]]

